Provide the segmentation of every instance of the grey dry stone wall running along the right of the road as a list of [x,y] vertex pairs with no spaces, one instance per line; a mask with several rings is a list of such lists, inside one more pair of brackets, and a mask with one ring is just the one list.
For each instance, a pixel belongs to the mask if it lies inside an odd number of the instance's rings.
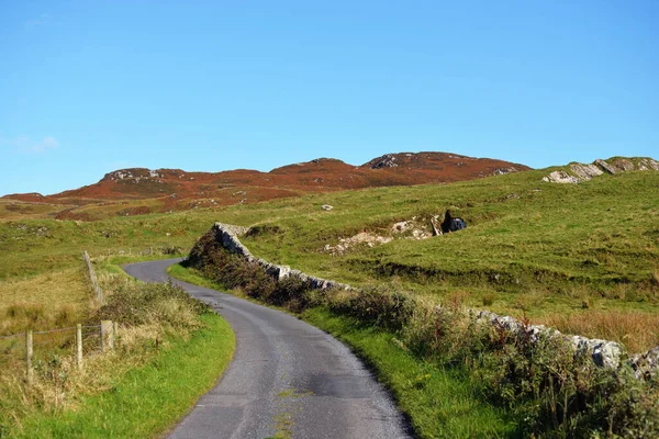
[[[317,290],[339,289],[355,291],[355,289],[348,284],[316,278],[299,270],[291,270],[288,266],[278,266],[255,257],[238,238],[239,235],[243,235],[248,230],[247,227],[215,223],[213,229],[215,239],[221,243],[224,248],[241,255],[248,262],[257,263],[263,267],[263,269],[275,279],[297,277],[309,282],[311,288]],[[616,370],[624,365],[630,367],[638,379],[655,376],[659,370],[659,346],[645,353],[627,356],[625,349],[615,341],[582,336],[567,336],[557,329],[547,328],[544,325],[525,325],[514,317],[501,316],[489,311],[468,309],[467,312],[477,322],[488,322],[489,324],[504,328],[512,334],[524,334],[529,336],[532,340],[538,339],[540,336],[562,337],[570,344],[576,356],[588,356],[596,365],[612,370]]]

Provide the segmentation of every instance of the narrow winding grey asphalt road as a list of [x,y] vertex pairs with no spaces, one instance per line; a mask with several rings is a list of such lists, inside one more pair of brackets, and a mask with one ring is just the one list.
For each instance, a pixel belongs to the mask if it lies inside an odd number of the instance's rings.
[[[124,270],[145,282],[170,279],[179,259]],[[391,397],[348,348],[295,317],[172,279],[221,314],[236,335],[224,376],[170,438],[413,437]]]

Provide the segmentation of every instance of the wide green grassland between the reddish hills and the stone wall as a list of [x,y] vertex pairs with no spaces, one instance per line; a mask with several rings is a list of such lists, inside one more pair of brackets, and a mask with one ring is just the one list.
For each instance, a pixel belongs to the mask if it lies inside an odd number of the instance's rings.
[[[264,226],[244,238],[255,255],[324,278],[358,286],[392,283],[438,302],[526,314],[534,323],[615,339],[633,351],[659,344],[659,173],[543,182],[554,169],[560,168],[90,223],[5,219],[0,223],[0,291],[3,297],[9,290],[22,291],[20,301],[30,302],[43,293],[38,277],[71,278],[83,249],[97,257],[149,247],[187,251],[221,221]],[[334,210],[323,211],[322,204]],[[428,228],[427,218],[446,209],[463,217],[468,228],[426,240],[405,239],[391,229],[414,217]],[[399,238],[342,255],[323,251],[364,230]],[[83,283],[67,283],[66,301],[76,294],[83,301]],[[15,293],[12,297],[1,300],[0,307],[19,300]]]

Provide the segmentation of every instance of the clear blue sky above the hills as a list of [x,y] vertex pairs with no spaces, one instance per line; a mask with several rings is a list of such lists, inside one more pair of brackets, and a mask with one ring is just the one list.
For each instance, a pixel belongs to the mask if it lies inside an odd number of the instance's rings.
[[659,2],[0,0],[0,195],[127,168],[659,158]]

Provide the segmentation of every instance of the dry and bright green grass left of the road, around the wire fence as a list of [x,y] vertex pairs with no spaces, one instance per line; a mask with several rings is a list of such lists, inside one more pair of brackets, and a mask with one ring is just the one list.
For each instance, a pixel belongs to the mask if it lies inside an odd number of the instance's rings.
[[119,266],[157,257],[163,255],[94,259],[105,302],[90,299],[87,286],[87,299],[81,294],[81,305],[68,314],[62,311],[70,309],[64,292],[72,282],[63,273],[79,271],[88,282],[81,267],[0,282],[10,290],[34,284],[44,290],[41,296],[30,296],[31,303],[5,306],[3,329],[53,329],[100,319],[120,324],[115,350],[98,354],[90,347],[81,371],[70,344],[37,347],[32,386],[23,382],[24,363],[16,357],[21,340],[18,347],[3,344],[8,350],[0,350],[0,437],[153,437],[212,386],[233,356],[233,331],[186,293],[137,282]]

